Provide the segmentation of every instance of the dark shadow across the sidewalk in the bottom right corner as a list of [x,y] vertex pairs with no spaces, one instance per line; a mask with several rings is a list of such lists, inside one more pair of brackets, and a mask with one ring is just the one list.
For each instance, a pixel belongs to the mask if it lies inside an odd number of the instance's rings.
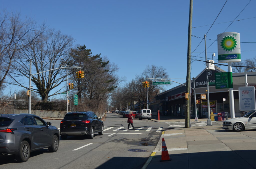
[[256,150],[213,151],[187,154],[171,154],[172,161],[159,162],[161,155],[156,155],[147,169],[216,169],[216,168],[256,168]]

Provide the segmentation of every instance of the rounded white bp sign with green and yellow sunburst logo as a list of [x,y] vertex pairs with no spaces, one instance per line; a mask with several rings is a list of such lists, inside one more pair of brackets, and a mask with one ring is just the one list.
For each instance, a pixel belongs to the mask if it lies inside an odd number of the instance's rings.
[[219,63],[241,62],[240,33],[225,32],[217,38]]

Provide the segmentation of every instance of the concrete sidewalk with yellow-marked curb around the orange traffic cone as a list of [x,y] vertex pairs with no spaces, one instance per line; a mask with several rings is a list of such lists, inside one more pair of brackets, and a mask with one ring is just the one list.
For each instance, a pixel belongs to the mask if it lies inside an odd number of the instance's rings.
[[[256,168],[255,130],[233,132],[221,127],[204,126],[164,131],[143,169]],[[162,138],[165,139],[171,161],[159,162]]]

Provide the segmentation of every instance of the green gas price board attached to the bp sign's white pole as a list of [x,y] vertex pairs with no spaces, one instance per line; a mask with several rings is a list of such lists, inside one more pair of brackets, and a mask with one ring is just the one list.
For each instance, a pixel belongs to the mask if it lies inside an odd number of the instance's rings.
[[215,73],[216,89],[233,88],[232,72]]

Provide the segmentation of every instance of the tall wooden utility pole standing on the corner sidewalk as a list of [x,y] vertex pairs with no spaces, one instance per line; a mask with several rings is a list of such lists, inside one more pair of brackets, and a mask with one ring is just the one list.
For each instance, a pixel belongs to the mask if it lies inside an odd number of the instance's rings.
[[[188,53],[187,53],[187,78],[186,78],[186,93],[190,93],[190,73],[191,73],[191,31],[192,31],[192,11],[193,0],[189,2],[189,21],[188,21]],[[186,100],[186,115],[185,115],[185,127],[189,127],[189,100]]]

